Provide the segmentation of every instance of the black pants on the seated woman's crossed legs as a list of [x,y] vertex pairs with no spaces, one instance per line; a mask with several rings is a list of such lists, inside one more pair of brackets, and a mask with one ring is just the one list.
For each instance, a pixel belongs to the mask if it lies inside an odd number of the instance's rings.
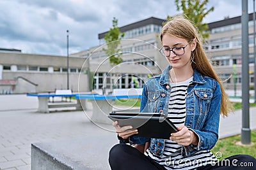
[[[233,164],[232,164],[233,161]],[[230,164],[228,164],[230,162]],[[165,169],[154,160],[126,144],[117,144],[109,152],[109,165],[112,170],[125,169]],[[198,167],[198,169],[256,169],[256,159],[250,155],[234,155],[215,165]]]

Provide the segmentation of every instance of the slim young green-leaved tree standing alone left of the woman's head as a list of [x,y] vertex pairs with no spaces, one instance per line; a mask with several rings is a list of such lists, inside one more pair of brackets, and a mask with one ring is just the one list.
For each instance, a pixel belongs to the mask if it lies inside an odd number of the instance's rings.
[[108,33],[105,34],[105,41],[107,43],[108,48],[103,48],[104,52],[107,56],[109,56],[109,63],[111,66],[115,66],[123,62],[123,59],[121,58],[120,48],[118,46],[120,45],[120,39],[124,37],[124,32],[121,33],[117,24],[118,20],[114,17],[112,20],[113,27],[108,31]]

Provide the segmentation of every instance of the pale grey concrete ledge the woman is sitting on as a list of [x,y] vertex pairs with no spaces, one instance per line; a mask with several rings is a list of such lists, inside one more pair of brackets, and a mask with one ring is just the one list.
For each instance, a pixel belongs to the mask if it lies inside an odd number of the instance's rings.
[[[31,170],[110,169],[108,153],[116,134],[31,144]],[[108,139],[107,139],[108,138]]]

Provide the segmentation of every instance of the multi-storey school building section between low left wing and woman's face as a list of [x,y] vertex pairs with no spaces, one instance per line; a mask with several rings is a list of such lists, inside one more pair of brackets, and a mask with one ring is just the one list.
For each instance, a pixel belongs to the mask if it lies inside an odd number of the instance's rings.
[[118,66],[109,64],[104,49],[104,36],[107,32],[99,34],[99,46],[84,52],[75,53],[88,57],[90,71],[93,73],[93,89],[121,89],[141,88],[148,77],[160,74],[168,65],[165,57],[159,53],[161,42],[159,32],[164,20],[150,17],[133,24],[120,27],[125,33],[120,41],[120,50],[124,60]]

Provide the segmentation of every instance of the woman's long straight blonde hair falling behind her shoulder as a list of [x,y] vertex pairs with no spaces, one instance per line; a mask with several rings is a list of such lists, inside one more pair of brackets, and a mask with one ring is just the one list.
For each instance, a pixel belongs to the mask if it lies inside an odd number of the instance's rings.
[[195,56],[195,62],[192,62],[191,66],[199,73],[204,74],[205,76],[209,76],[220,83],[220,113],[223,116],[227,116],[228,112],[233,110],[232,103],[230,103],[230,100],[228,99],[228,96],[223,89],[220,78],[218,78],[218,75],[215,73],[210,60],[205,55],[204,48],[202,47],[202,43],[199,38],[198,30],[196,29],[195,25],[188,18],[186,18],[185,15],[176,15],[163,26],[163,29],[160,33],[161,41],[163,40],[164,34],[177,36],[179,38],[186,39],[188,42],[194,39],[197,42],[196,48],[192,54]]

